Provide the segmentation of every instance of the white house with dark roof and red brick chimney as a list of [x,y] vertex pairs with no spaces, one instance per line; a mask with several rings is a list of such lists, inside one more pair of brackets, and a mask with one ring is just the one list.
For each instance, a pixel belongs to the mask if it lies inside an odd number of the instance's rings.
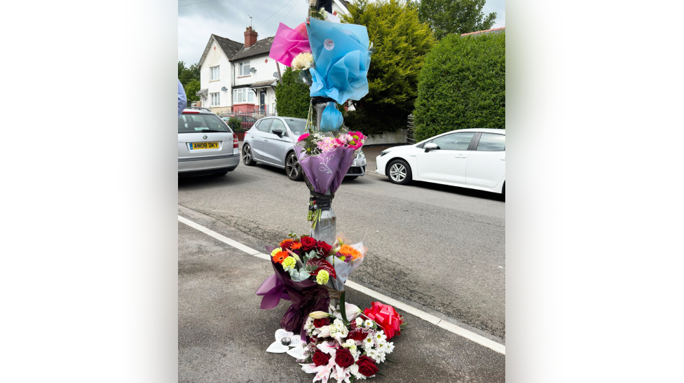
[[[252,27],[245,43],[212,34],[198,63],[200,104],[219,115],[233,112],[275,113],[278,69],[268,57],[273,37],[257,40]],[[281,71],[285,67],[280,67]]]

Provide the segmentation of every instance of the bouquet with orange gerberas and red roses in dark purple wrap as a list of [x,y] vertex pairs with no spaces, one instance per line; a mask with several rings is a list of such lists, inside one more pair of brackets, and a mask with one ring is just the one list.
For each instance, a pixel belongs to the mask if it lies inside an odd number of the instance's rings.
[[292,305],[280,326],[306,337],[304,323],[310,312],[326,310],[338,299],[350,272],[359,267],[367,251],[362,243],[347,244],[339,236],[333,245],[291,232],[279,247],[266,246],[275,271],[259,286],[261,309],[273,309],[281,299]]

